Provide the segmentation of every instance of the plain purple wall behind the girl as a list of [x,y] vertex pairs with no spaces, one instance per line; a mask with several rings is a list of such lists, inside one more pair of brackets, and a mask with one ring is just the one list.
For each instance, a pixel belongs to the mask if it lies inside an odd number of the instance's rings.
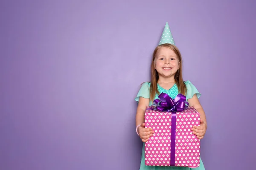
[[168,21],[207,170],[255,168],[256,2],[1,1],[0,169],[138,170],[135,96]]

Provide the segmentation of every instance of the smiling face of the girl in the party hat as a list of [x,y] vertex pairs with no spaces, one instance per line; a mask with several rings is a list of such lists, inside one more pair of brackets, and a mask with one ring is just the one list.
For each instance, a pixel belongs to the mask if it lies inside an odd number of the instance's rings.
[[158,49],[154,63],[159,77],[174,77],[176,71],[180,68],[177,55],[167,47]]

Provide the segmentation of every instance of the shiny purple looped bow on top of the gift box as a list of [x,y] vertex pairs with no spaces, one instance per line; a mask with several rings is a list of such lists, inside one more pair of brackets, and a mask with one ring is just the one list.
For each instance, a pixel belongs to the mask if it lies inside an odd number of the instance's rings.
[[151,109],[158,111],[184,111],[189,105],[186,102],[186,96],[183,94],[178,94],[175,99],[172,99],[168,94],[161,93],[158,96],[159,99],[155,99],[153,101],[153,105],[151,105]]

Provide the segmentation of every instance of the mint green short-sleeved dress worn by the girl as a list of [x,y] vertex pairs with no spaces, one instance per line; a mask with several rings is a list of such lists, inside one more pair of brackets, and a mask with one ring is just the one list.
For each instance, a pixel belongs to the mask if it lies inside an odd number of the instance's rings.
[[[187,94],[186,94],[186,99],[192,98],[194,94],[197,95],[199,98],[201,94],[198,92],[197,88],[189,81],[185,81],[186,88],[187,88]],[[137,94],[137,97],[135,100],[138,102],[140,97],[148,98],[150,96],[149,93],[149,87],[150,87],[150,82],[145,82],[140,88],[140,91]],[[169,90],[166,90],[162,88],[160,85],[157,84],[157,89],[160,93],[166,93],[168,94],[171,98],[175,98],[178,94],[178,87],[177,85],[173,85],[172,88]],[[154,99],[158,99],[158,94],[156,94]],[[151,105],[151,102],[150,104]],[[158,167],[158,166],[146,166],[145,165],[145,143],[143,142],[143,148],[142,148],[142,156],[141,156],[141,163],[140,163],[140,170],[205,170],[204,169],[204,164],[203,161],[201,160],[200,157],[200,166],[197,168],[189,168],[189,167]]]

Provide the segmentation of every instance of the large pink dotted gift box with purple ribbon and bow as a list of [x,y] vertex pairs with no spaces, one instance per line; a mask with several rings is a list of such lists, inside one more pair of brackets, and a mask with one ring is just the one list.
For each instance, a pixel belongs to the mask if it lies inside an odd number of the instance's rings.
[[200,139],[192,133],[192,126],[200,125],[200,113],[186,106],[186,96],[171,99],[160,94],[154,105],[145,111],[145,127],[154,130],[145,142],[145,165],[200,166]]

